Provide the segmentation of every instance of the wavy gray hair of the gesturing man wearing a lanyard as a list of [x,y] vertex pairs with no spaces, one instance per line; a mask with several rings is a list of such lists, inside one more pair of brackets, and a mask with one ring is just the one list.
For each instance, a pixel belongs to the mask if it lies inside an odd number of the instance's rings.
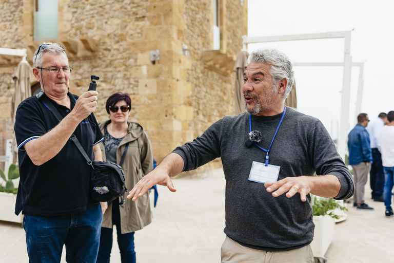
[[283,100],[289,96],[294,83],[294,71],[292,63],[285,53],[274,48],[260,48],[250,53],[248,64],[251,62],[267,63],[271,65],[271,74],[274,86],[282,79],[287,79],[287,87],[283,92]]

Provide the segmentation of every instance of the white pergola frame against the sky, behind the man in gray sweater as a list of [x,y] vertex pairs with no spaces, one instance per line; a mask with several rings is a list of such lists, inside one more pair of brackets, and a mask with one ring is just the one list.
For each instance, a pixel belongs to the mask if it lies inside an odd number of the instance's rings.
[[294,41],[294,40],[313,40],[313,39],[334,39],[343,38],[344,44],[344,61],[341,63],[294,63],[294,65],[303,66],[343,66],[343,81],[342,81],[342,98],[341,98],[341,118],[340,131],[338,135],[338,153],[345,160],[346,153],[346,137],[349,128],[349,104],[350,104],[350,78],[351,67],[360,67],[360,80],[357,95],[356,112],[360,112],[361,99],[363,93],[364,81],[362,79],[364,71],[364,63],[352,63],[350,57],[350,34],[351,31],[337,31],[326,33],[311,33],[311,34],[297,34],[297,35],[277,35],[277,36],[261,36],[248,37],[243,36],[243,49],[247,49],[247,45],[251,43],[263,42],[280,42],[280,41]]

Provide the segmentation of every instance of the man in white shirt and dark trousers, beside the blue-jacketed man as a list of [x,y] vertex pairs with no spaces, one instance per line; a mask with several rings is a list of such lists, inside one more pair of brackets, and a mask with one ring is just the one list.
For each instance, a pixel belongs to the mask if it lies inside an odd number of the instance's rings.
[[382,165],[382,155],[380,149],[380,130],[387,124],[387,114],[381,112],[366,128],[371,141],[372,163],[370,175],[370,186],[372,199],[376,202],[383,202],[384,172]]

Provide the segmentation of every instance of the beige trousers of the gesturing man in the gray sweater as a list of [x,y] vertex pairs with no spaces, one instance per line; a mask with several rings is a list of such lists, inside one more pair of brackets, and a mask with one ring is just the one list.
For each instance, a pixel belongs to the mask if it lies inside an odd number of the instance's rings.
[[314,263],[310,245],[284,252],[244,247],[228,236],[221,249],[222,263]]

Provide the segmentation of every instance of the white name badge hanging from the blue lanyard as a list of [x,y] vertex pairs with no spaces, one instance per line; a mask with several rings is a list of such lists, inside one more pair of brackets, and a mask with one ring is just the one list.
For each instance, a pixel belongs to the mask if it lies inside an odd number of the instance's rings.
[[278,181],[280,170],[281,166],[271,164],[265,166],[264,163],[253,161],[249,174],[249,181],[258,183],[276,182]]

